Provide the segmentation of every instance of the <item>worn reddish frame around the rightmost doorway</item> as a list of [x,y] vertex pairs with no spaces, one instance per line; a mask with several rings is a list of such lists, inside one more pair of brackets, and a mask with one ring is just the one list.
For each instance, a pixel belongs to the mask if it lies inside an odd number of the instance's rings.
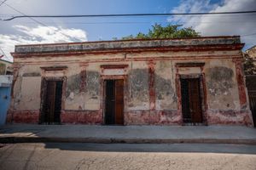
[[177,74],[176,77],[176,87],[177,87],[177,111],[181,115],[181,123],[183,122],[183,111],[182,111],[182,94],[181,94],[181,79],[198,78],[200,84],[200,97],[201,97],[201,114],[202,114],[202,125],[207,125],[207,96],[206,96],[206,81],[204,73],[201,74],[189,74],[180,75]]

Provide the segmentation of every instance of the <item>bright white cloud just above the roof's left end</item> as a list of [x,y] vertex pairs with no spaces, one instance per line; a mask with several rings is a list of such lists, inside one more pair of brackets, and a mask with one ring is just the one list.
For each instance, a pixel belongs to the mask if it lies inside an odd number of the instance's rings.
[[0,34],[0,47],[7,57],[12,60],[10,52],[15,51],[15,45],[55,42],[85,42],[86,32],[80,29],[65,29],[55,26],[14,26],[16,34]]

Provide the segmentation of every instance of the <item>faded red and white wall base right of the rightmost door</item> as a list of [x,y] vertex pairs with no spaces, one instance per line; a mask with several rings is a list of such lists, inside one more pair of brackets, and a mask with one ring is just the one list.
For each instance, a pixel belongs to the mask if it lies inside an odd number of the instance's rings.
[[251,111],[207,111],[208,125],[246,125],[253,126]]

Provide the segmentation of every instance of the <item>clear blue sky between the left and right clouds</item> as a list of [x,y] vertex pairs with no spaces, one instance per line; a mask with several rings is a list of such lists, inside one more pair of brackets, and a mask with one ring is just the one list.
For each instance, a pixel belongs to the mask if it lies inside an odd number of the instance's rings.
[[[0,0],[2,1],[2,0]],[[178,1],[170,0],[44,0],[40,5],[35,0],[20,0],[20,3],[9,0],[6,3],[19,9],[25,14],[141,14],[141,13],[169,13],[170,9],[178,5]],[[4,6],[7,14],[19,14]],[[2,11],[3,13],[3,11]],[[7,18],[7,17],[6,17]],[[163,25],[167,17],[106,17],[80,19],[36,19],[47,26],[62,26],[64,28],[82,29],[87,32],[88,40],[109,40],[112,37],[124,37],[138,31],[146,32],[155,22]],[[116,22],[116,23],[113,23]],[[6,25],[7,23],[3,23]],[[9,24],[22,26],[38,26],[32,20],[14,20]],[[7,29],[6,32],[11,32]]]

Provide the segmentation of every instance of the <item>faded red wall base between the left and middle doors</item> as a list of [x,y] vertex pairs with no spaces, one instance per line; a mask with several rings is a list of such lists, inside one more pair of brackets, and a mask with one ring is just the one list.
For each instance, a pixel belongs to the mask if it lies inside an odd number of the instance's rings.
[[61,123],[64,124],[102,124],[101,111],[62,111]]

